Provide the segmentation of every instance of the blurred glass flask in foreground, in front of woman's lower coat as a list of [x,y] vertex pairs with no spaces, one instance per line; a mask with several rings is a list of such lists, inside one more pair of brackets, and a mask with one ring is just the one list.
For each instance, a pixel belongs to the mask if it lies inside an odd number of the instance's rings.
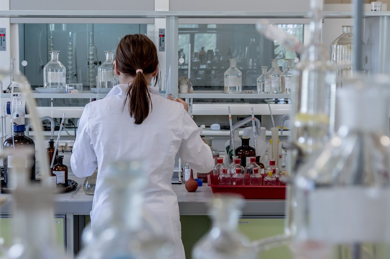
[[92,222],[94,237],[89,238],[78,259],[172,258],[173,244],[165,236],[152,233],[143,221],[150,217],[142,211],[142,190],[147,183],[145,166],[137,161],[112,164],[112,174],[105,178],[112,190],[107,203],[110,208],[98,222]]

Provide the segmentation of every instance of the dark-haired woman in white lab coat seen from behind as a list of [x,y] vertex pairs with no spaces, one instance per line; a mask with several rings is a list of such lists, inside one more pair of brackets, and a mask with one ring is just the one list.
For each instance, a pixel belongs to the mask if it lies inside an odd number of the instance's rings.
[[214,166],[211,150],[186,112],[186,103],[167,100],[149,87],[152,77],[158,76],[157,49],[149,38],[141,34],[123,37],[114,62],[120,84],[106,98],[85,106],[71,157],[78,177],[92,175],[99,168],[90,213],[92,229],[109,207],[110,189],[103,182],[111,173],[109,163],[147,159],[149,169],[144,173],[149,184],[144,189],[143,209],[154,215],[174,243],[171,258],[183,259],[179,206],[171,184],[174,158],[178,154],[193,170],[209,172]]

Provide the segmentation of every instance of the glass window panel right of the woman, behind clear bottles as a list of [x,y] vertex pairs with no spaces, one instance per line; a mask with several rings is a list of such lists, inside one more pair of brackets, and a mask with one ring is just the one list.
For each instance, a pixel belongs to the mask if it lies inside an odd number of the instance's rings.
[[[275,25],[303,42],[303,24]],[[298,55],[279,42],[266,39],[254,24],[179,24],[179,77],[188,76],[188,44],[191,43],[191,83],[197,90],[223,90],[223,73],[229,59],[237,60],[242,72],[242,90],[255,90],[261,66],[271,68],[271,59],[278,59],[280,70],[285,58]],[[182,60],[183,61],[183,60]]]

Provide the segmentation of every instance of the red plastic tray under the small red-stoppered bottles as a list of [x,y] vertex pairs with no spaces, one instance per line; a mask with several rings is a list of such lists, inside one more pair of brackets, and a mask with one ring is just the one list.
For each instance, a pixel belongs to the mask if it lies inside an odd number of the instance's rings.
[[277,199],[286,198],[285,186],[234,186],[215,185],[212,175],[207,176],[207,186],[211,187],[213,193],[236,193],[241,194],[245,199]]

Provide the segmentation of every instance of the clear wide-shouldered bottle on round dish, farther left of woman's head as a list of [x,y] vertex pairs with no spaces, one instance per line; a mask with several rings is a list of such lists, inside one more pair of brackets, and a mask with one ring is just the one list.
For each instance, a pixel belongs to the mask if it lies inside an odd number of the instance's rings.
[[60,51],[49,51],[50,61],[43,67],[44,87],[64,87],[66,79],[66,68],[58,61]]

